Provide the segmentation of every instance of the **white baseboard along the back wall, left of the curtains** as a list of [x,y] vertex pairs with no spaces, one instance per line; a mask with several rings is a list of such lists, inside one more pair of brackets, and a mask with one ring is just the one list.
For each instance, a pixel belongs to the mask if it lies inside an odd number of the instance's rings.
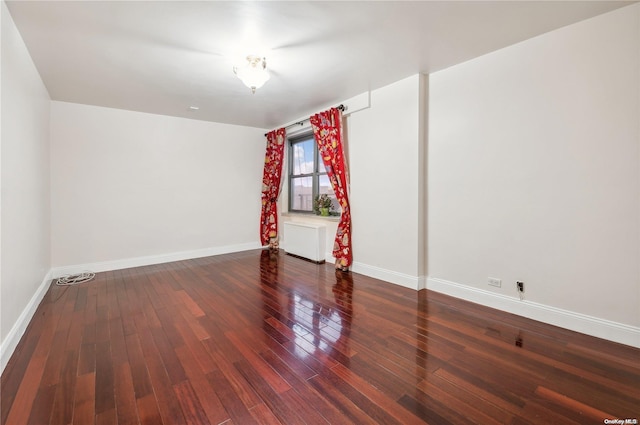
[[106,272],[110,270],[129,269],[132,267],[150,266],[152,264],[170,263],[172,261],[190,260],[192,258],[210,257],[212,255],[231,254],[233,252],[249,251],[260,249],[262,246],[258,242],[250,242],[237,245],[219,246],[192,251],[174,252],[170,254],[150,255],[145,257],[125,258],[121,260],[100,261],[87,264],[75,264],[71,266],[60,266],[51,269],[54,277],[69,274],[81,273],[83,271]]

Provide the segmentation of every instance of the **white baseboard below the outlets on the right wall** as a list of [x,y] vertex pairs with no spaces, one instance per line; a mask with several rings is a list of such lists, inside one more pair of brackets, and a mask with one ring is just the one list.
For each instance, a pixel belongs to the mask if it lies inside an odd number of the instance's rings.
[[640,348],[640,328],[520,300],[444,279],[428,278],[427,289],[597,338]]

